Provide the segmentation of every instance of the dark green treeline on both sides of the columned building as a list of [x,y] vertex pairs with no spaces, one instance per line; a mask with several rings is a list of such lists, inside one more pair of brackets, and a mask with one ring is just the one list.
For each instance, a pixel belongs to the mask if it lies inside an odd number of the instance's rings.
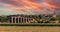
[[[34,18],[37,21],[37,23],[60,23],[60,15],[56,15],[56,17],[53,17],[54,15],[20,15],[20,16]],[[0,22],[9,23],[10,22],[9,17],[0,16]]]

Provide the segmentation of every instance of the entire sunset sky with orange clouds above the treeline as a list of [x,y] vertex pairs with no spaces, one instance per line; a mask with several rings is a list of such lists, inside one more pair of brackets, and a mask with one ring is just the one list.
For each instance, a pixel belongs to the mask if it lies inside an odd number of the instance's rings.
[[0,0],[0,15],[60,13],[60,0]]

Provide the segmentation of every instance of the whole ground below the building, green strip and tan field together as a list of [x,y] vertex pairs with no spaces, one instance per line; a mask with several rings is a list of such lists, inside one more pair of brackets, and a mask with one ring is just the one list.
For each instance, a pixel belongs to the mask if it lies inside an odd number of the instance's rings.
[[0,24],[0,32],[60,32],[59,23]]

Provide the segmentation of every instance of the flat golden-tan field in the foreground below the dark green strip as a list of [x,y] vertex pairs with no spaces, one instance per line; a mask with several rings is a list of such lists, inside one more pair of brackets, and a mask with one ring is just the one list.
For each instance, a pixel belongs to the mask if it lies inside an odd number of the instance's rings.
[[58,26],[0,26],[0,32],[60,32]]

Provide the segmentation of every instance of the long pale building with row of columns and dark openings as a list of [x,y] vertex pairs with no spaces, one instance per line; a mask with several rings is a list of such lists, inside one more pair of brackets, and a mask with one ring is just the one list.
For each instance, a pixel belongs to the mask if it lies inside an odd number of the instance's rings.
[[30,23],[34,22],[35,20],[30,17],[24,16],[10,16],[10,23]]

